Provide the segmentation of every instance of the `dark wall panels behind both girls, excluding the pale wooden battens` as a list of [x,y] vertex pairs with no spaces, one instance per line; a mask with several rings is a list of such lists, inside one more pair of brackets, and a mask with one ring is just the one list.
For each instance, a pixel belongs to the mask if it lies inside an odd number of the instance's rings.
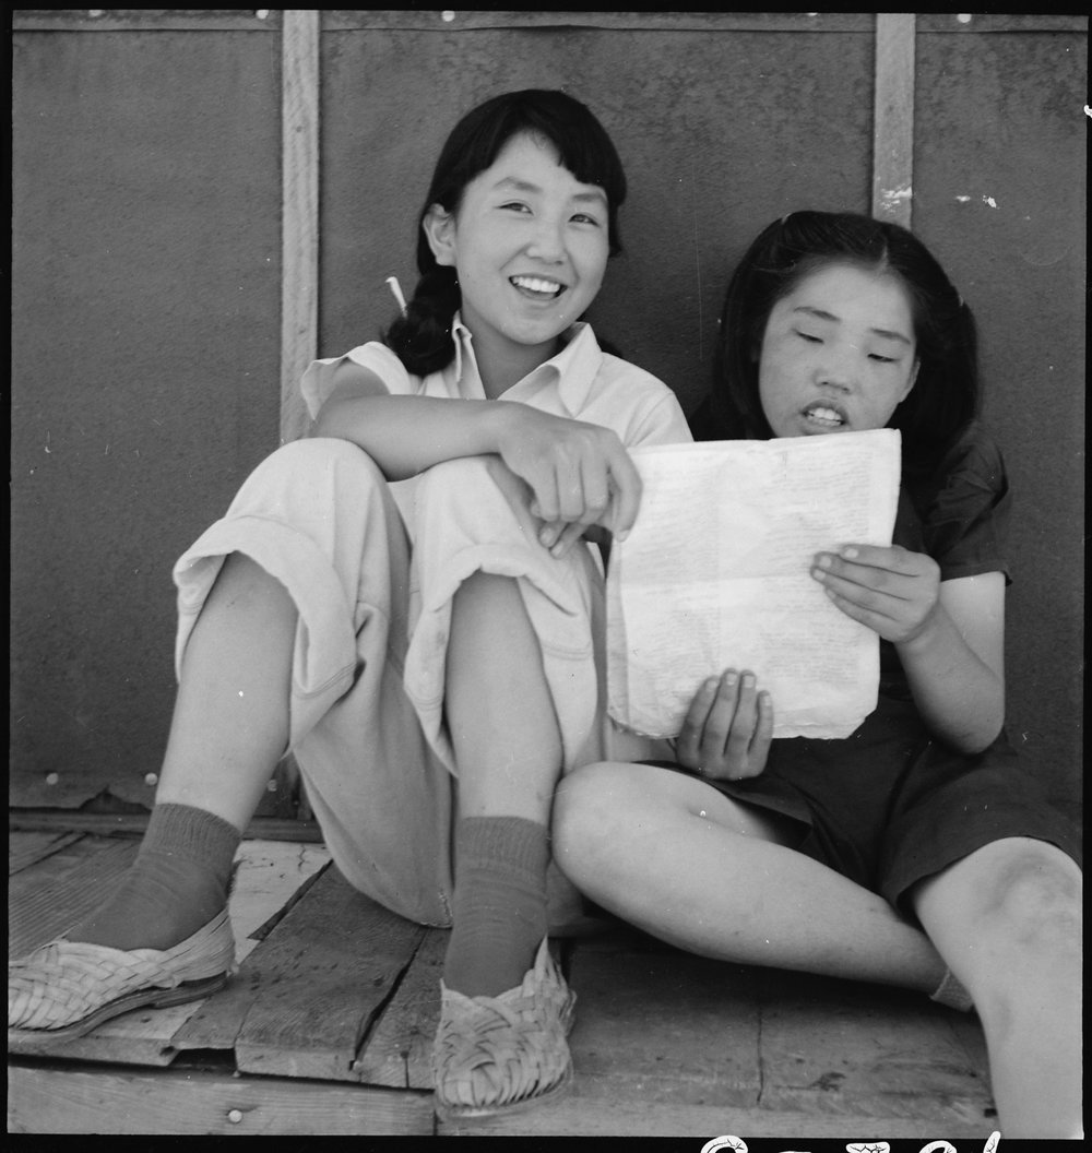
[[[625,254],[593,318],[692,408],[754,233],[792,209],[868,209],[871,23],[551,29],[548,16],[467,29],[415,14],[392,29],[383,14],[324,14],[319,352],[390,321],[385,277],[412,287],[419,197],[457,116],[505,89],[563,86],[604,121],[631,182]],[[914,224],[979,315],[987,419],[1017,492],[1014,734],[1072,800],[1086,38],[940,21],[919,22]],[[174,687],[171,565],[277,444],[278,31],[131,23],[14,38],[18,805],[150,799]]]

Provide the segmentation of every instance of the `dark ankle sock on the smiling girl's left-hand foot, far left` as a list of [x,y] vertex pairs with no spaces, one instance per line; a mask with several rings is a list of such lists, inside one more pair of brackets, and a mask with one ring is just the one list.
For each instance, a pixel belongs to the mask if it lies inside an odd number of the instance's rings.
[[126,950],[176,945],[227,904],[241,839],[234,824],[205,809],[157,805],[129,872],[65,936]]

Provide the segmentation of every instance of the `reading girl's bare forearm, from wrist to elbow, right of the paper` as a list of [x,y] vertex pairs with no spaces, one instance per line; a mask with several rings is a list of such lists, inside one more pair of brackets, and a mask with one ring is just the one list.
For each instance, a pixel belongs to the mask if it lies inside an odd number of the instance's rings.
[[986,748],[1004,723],[1004,681],[970,648],[943,605],[922,633],[895,647],[929,730],[963,753]]

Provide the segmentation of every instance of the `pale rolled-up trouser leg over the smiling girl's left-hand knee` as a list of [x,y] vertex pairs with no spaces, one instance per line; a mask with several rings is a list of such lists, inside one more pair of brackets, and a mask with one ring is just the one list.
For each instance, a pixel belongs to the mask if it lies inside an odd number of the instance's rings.
[[174,568],[176,663],[224,559],[249,556],[299,611],[289,745],[346,879],[450,924],[452,777],[402,687],[411,548],[382,473],[346,440],[285,445]]

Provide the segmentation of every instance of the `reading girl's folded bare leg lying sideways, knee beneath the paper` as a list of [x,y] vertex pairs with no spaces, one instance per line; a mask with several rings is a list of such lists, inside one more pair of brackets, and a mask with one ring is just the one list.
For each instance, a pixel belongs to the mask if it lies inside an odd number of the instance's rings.
[[929,939],[788,847],[791,823],[683,774],[595,764],[557,791],[553,852],[593,900],[691,952],[932,993]]

